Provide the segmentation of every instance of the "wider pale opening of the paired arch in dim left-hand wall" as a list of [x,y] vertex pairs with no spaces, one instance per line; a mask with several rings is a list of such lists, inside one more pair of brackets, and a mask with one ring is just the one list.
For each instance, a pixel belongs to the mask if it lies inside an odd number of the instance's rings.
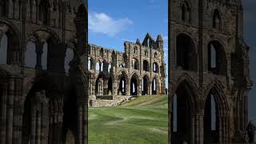
[[36,46],[34,42],[28,42],[26,45],[25,66],[26,68],[35,68],[36,65],[37,65]]

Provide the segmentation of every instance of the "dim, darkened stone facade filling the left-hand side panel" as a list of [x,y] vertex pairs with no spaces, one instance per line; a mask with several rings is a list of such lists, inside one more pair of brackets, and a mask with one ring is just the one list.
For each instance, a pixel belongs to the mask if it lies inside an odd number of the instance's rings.
[[0,143],[87,143],[87,22],[87,2],[0,1]]

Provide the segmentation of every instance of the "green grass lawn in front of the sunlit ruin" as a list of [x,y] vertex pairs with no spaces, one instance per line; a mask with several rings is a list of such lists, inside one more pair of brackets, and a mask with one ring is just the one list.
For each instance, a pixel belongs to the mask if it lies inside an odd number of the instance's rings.
[[122,106],[89,109],[89,144],[166,144],[166,95],[142,96]]

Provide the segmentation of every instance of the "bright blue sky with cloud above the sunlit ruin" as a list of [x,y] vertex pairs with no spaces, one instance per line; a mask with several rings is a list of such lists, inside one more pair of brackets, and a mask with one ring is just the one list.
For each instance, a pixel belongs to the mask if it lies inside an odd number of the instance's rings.
[[[162,34],[167,50],[167,0],[89,0],[89,42],[123,51],[125,41]],[[103,24],[103,25],[102,25]],[[166,55],[167,60],[167,55]]]

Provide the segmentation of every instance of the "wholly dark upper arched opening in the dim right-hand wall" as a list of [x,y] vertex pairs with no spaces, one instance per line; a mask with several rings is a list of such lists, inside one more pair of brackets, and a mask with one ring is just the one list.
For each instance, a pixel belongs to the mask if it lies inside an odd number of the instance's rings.
[[198,70],[198,56],[193,40],[186,34],[179,34],[176,38],[176,63],[182,70]]

